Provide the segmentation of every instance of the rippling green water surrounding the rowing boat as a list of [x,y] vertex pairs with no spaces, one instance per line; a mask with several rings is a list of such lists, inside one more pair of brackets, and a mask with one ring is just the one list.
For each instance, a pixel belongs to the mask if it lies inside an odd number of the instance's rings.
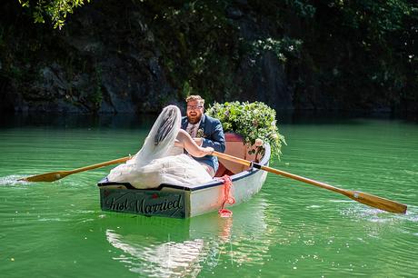
[[110,167],[52,184],[15,181],[134,154],[152,120],[2,122],[0,276],[417,275],[418,125],[402,120],[281,124],[288,146],[271,165],[408,204],[405,215],[274,174],[252,200],[233,207],[230,219],[102,212],[95,184]]

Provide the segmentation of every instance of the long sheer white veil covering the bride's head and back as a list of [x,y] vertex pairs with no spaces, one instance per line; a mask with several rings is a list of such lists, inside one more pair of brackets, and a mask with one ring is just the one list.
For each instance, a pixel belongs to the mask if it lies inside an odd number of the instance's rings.
[[164,107],[156,119],[150,133],[145,138],[141,150],[135,155],[136,164],[148,164],[154,159],[164,157],[174,145],[180,130],[182,114],[175,105]]

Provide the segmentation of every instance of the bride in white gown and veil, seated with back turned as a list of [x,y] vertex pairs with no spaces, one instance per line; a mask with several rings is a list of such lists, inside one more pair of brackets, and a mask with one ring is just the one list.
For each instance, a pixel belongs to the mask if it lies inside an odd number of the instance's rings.
[[144,145],[125,164],[111,170],[109,182],[124,182],[136,188],[154,188],[160,184],[203,184],[212,180],[204,166],[187,153],[202,157],[212,154],[211,147],[200,147],[181,129],[182,114],[169,105],[156,119]]

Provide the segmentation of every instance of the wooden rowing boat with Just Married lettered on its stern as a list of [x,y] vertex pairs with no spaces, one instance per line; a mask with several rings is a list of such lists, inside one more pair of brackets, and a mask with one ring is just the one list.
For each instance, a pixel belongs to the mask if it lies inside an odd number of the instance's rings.
[[[264,155],[257,159],[248,154],[241,136],[225,134],[225,154],[234,155],[249,161],[259,160],[258,164],[269,164],[271,150],[264,144]],[[257,194],[265,181],[267,172],[234,164],[222,158],[214,180],[205,184],[160,184],[153,189],[136,189],[129,183],[109,182],[104,177],[97,185],[100,190],[102,210],[117,213],[135,213],[147,216],[188,218],[217,211],[223,207],[241,204]],[[225,176],[231,178],[230,192],[225,191]],[[234,204],[227,201],[228,194],[234,197]],[[232,203],[232,202],[231,202]]]

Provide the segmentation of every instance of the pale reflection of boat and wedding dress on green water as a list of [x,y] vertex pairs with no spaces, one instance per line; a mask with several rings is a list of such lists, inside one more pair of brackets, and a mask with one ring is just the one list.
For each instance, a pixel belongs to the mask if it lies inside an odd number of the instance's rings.
[[256,198],[233,207],[231,218],[217,213],[186,220],[135,216],[130,218],[133,225],[121,223],[104,233],[108,243],[122,251],[115,251],[113,259],[131,272],[157,277],[196,276],[222,263],[263,263],[269,248],[265,241],[270,238],[264,223],[265,208],[264,199]]

